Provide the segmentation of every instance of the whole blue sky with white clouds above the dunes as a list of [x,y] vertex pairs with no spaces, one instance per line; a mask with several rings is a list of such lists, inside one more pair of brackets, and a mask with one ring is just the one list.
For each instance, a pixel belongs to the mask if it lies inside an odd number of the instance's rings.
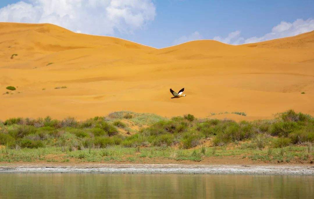
[[[83,5],[80,8],[73,3],[60,5],[61,0],[2,0],[0,21],[50,22],[76,32],[116,36],[157,48],[194,39],[241,44],[314,30],[313,0],[134,0],[136,3],[130,4],[93,0],[93,6],[87,0],[78,1]],[[19,9],[27,12],[20,14]]]

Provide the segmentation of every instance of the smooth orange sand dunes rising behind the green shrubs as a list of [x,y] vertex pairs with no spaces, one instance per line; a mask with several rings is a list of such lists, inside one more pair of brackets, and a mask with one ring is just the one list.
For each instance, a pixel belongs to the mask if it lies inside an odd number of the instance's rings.
[[[5,94],[7,86],[17,90]],[[182,87],[187,97],[171,99],[169,88]],[[236,120],[290,108],[314,115],[314,31],[239,46],[200,40],[156,49],[50,24],[0,23],[0,92],[2,120],[120,110]],[[211,116],[234,111],[247,116]]]

